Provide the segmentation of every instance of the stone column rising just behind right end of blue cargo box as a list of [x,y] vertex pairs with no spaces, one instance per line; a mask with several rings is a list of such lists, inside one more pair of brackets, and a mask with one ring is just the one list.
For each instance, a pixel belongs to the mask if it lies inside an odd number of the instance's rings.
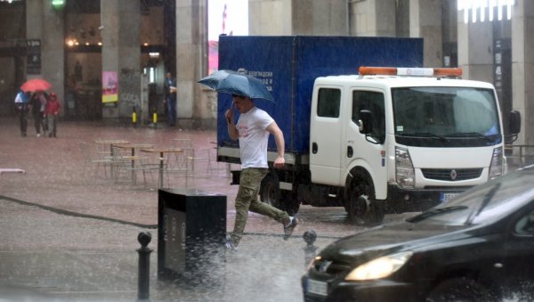
[[409,37],[424,39],[425,67],[443,66],[441,13],[441,0],[409,1]]

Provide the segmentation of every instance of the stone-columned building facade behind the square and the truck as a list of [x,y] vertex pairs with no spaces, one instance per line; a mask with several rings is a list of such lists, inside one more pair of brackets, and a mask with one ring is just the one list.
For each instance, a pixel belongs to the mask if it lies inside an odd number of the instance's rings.
[[[61,96],[66,118],[127,119],[141,110],[148,120],[152,111],[164,111],[162,83],[170,71],[182,124],[213,127],[214,94],[197,84],[207,70],[208,4],[66,0],[56,8],[53,0],[1,1],[0,19],[8,21],[0,25],[6,67],[0,110],[10,110],[21,81],[43,77]],[[493,83],[505,122],[510,110],[522,114],[516,143],[534,144],[532,1],[248,0],[248,20],[255,36],[423,37],[425,66],[458,66],[463,78]],[[32,54],[40,56],[37,62]],[[103,72],[116,75],[117,102],[101,102]],[[80,93],[74,108],[73,81]]]

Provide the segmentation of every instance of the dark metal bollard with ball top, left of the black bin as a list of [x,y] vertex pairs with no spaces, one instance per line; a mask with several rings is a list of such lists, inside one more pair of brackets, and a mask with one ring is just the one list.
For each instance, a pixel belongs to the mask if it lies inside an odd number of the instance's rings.
[[150,301],[150,253],[152,249],[147,246],[152,240],[149,232],[141,232],[137,235],[137,241],[141,243],[139,253],[139,282],[137,289],[137,301]]

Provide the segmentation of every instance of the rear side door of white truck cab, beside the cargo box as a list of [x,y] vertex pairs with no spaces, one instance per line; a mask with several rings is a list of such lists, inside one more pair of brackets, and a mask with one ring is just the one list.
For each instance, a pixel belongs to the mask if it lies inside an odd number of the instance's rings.
[[341,87],[315,86],[310,121],[310,170],[315,184],[340,184]]

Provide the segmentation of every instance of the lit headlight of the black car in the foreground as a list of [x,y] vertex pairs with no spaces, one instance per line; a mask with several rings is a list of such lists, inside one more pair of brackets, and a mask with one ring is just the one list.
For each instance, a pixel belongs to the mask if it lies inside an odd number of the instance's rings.
[[345,280],[364,281],[385,278],[399,270],[412,255],[413,252],[407,251],[373,259],[354,268],[351,273],[347,274]]

